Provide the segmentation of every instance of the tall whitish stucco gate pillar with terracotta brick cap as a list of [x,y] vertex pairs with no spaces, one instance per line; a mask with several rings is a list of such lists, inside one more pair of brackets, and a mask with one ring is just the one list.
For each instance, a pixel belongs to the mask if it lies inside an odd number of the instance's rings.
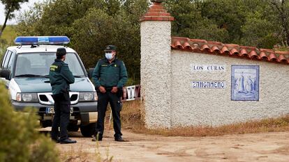
[[140,18],[142,118],[148,128],[171,126],[171,22],[162,0]]

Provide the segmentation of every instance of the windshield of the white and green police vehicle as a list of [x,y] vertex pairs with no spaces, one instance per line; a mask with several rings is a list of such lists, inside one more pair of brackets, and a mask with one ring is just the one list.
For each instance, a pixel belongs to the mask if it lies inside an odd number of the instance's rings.
[[[18,54],[15,67],[15,77],[47,77],[50,65],[54,63],[56,53]],[[65,63],[74,76],[84,77],[84,72],[75,53],[67,53]]]

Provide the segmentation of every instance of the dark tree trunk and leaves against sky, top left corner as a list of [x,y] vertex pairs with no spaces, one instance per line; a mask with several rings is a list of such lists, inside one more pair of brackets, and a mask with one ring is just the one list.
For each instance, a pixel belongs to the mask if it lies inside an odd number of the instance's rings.
[[0,1],[5,6],[5,21],[4,21],[4,24],[3,24],[2,29],[0,31],[0,38],[1,38],[1,35],[4,31],[4,29],[6,28],[6,23],[7,23],[8,19],[15,17],[15,15],[13,13],[15,10],[20,9],[20,3],[27,2],[28,0],[0,0]]

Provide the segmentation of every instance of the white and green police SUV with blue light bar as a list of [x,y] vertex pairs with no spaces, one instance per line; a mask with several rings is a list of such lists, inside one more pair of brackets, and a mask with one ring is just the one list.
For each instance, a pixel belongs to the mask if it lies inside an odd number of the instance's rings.
[[[0,64],[0,81],[10,91],[10,99],[16,111],[25,107],[37,108],[42,127],[51,127],[54,100],[50,86],[50,65],[59,47],[70,42],[66,36],[17,37],[8,47]],[[75,76],[71,84],[71,120],[68,131],[80,131],[83,136],[94,134],[97,120],[97,95],[76,51],[66,48],[68,67]]]

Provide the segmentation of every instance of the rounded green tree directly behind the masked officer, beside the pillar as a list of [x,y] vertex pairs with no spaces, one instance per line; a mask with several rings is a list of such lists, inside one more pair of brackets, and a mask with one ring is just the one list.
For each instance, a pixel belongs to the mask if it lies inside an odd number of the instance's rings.
[[124,60],[130,83],[140,83],[140,23],[139,17],[148,7],[146,0],[126,1],[111,14],[91,8],[71,29],[73,48],[80,54],[86,67],[94,67],[103,58],[108,44],[117,46],[117,57]]

